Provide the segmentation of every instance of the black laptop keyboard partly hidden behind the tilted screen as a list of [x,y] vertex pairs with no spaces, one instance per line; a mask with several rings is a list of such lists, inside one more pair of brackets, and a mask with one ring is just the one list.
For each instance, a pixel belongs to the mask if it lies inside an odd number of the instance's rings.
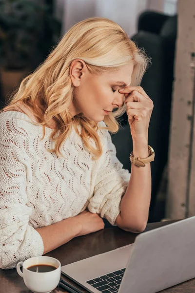
[[107,273],[98,278],[87,281],[87,283],[94,288],[98,289],[102,293],[118,292],[122,277],[124,275],[125,268]]

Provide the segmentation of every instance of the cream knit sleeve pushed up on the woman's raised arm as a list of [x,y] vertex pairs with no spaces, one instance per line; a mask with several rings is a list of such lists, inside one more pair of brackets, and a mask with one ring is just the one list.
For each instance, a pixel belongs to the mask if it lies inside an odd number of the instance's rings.
[[103,153],[97,166],[94,196],[90,199],[88,209],[99,213],[115,226],[120,213],[121,197],[126,191],[131,174],[122,168],[123,165],[117,159],[116,147],[108,130],[101,129],[100,133]]

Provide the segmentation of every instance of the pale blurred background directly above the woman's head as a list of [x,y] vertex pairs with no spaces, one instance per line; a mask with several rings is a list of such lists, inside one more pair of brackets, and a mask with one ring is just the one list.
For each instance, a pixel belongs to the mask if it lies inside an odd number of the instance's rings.
[[61,35],[78,21],[105,17],[116,21],[131,38],[137,33],[138,16],[145,10],[176,13],[177,0],[56,0],[56,15],[62,20]]

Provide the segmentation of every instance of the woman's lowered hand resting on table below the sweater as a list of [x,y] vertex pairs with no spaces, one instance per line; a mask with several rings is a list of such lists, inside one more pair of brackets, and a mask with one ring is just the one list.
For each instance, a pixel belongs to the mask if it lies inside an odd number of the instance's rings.
[[98,214],[92,213],[88,210],[84,210],[78,214],[75,219],[77,219],[78,225],[80,225],[78,236],[104,229],[104,221],[102,218]]

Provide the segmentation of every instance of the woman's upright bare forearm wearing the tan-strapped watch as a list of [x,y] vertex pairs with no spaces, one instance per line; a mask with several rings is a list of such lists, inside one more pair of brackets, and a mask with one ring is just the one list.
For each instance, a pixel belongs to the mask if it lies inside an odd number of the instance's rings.
[[[148,140],[133,139],[133,155],[146,158]],[[137,167],[132,164],[131,177],[126,192],[121,200],[121,212],[116,224],[123,230],[141,232],[145,229],[148,220],[148,211],[151,200],[151,167]]]

